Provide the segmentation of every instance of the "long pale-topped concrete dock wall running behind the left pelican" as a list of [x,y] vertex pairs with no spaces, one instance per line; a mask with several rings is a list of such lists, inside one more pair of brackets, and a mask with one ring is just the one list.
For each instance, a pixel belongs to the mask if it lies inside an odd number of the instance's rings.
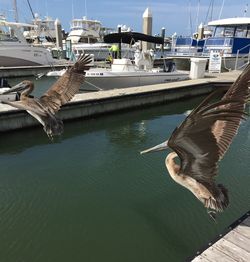
[[[239,73],[223,77],[77,94],[58,116],[65,120],[86,118],[119,110],[183,99],[229,87]],[[26,111],[0,104],[0,132],[39,125]]]

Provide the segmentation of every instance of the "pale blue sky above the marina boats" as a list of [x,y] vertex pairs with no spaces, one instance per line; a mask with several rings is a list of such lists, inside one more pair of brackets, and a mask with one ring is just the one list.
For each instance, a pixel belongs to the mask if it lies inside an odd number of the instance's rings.
[[[13,20],[12,0],[0,0],[0,13],[5,13]],[[200,2],[197,16],[198,2]],[[166,34],[174,32],[182,35],[194,32],[197,24],[206,22],[209,0],[30,0],[34,12],[41,17],[46,15],[59,18],[63,28],[69,30],[72,16],[100,20],[104,26],[116,28],[118,24],[126,24],[134,31],[142,31],[142,15],[149,7],[153,14],[153,33],[157,34],[162,27]],[[72,5],[73,3],[73,5]],[[223,0],[214,0],[213,19],[218,19]],[[32,18],[26,0],[17,0],[19,17],[22,22]],[[246,5],[249,4],[247,16],[250,17],[250,1],[224,0],[221,18],[243,16]],[[72,8],[73,6],[73,8]],[[85,8],[86,7],[86,8]],[[190,24],[190,14],[192,23]]]

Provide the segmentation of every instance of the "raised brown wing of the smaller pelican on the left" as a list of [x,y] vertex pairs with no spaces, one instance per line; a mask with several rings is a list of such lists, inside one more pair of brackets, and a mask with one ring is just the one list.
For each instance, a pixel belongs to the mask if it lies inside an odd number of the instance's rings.
[[89,55],[82,55],[51,87],[40,97],[40,103],[55,114],[62,105],[72,99],[85,79],[85,70],[91,62]]

